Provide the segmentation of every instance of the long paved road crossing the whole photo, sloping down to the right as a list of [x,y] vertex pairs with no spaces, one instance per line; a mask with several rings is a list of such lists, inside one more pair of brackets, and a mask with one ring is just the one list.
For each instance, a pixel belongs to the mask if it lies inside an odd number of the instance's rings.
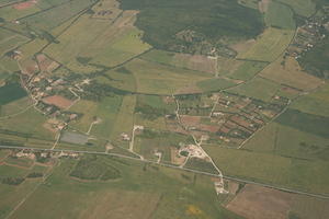
[[[218,174],[212,174],[212,173],[207,173],[207,172],[203,172],[203,171],[197,171],[197,170],[188,169],[188,168],[181,168],[181,166],[167,164],[167,163],[157,163],[156,161],[141,160],[139,158],[133,158],[133,157],[123,155],[123,154],[120,154],[120,153],[109,153],[109,152],[101,152],[101,151],[86,151],[86,150],[68,150],[68,149],[26,148],[26,147],[19,147],[19,146],[0,146],[0,149],[1,148],[2,149],[36,150],[36,151],[54,151],[54,152],[64,151],[64,152],[73,152],[73,153],[98,154],[98,155],[113,155],[113,157],[123,158],[123,159],[136,160],[136,161],[139,161],[139,162],[154,163],[154,164],[157,164],[157,165],[161,165],[161,166],[166,166],[166,168],[172,168],[172,169],[182,170],[182,171],[188,171],[188,172],[197,173],[197,174],[202,174],[202,175],[208,175],[208,176],[213,176],[213,177],[222,177]],[[236,181],[236,182],[239,182],[239,183],[259,185],[259,186],[274,188],[274,189],[286,192],[286,193],[306,195],[306,196],[321,198],[321,199],[329,199],[329,195],[307,193],[307,192],[302,192],[302,191],[297,191],[297,189],[293,189],[293,188],[286,188],[286,187],[281,187],[281,186],[275,186],[275,185],[248,181],[248,180],[243,180],[243,178],[238,178],[238,177],[234,177],[234,176],[229,176],[229,175],[223,175],[223,177],[226,178],[226,180],[231,180],[231,181]]]

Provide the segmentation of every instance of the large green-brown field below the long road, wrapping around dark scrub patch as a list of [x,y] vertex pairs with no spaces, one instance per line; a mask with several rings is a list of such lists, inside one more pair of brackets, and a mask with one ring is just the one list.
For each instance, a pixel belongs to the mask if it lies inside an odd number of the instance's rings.
[[[12,218],[21,218],[23,215],[29,218],[45,216],[58,218],[73,215],[79,215],[79,218],[109,218],[111,216],[114,219],[177,216],[182,219],[191,218],[191,216],[240,218],[218,205],[219,201],[213,193],[209,177],[183,174],[180,171],[125,160],[111,158],[98,160],[98,162],[118,169],[122,177],[106,182],[76,180],[69,174],[75,170],[77,161],[61,160],[61,164],[55,168],[45,183],[39,185],[27,201],[13,212]],[[1,198],[3,201],[7,200],[7,210],[3,210],[3,216],[13,208],[9,205],[13,194],[15,193],[10,191]],[[15,197],[20,200],[22,196]],[[41,210],[35,211],[32,206],[39,206]]]

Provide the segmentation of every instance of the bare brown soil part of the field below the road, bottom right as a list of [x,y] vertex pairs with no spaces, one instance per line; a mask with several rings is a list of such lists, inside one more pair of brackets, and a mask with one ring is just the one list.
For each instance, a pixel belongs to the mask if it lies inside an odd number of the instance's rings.
[[293,199],[288,193],[246,185],[226,208],[249,219],[286,219]]

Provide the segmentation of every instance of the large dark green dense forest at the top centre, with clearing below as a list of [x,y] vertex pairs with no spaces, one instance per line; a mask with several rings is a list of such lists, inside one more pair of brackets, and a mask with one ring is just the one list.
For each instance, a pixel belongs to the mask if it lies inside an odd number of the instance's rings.
[[208,54],[225,47],[228,37],[252,38],[264,26],[258,10],[237,0],[120,1],[123,10],[140,11],[136,25],[145,32],[144,41],[167,50]]

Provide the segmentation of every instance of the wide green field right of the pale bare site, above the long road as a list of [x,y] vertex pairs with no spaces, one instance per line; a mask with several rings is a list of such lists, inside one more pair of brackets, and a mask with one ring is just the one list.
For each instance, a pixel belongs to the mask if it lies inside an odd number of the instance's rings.
[[[329,181],[326,174],[329,169],[327,161],[308,161],[211,146],[204,149],[227,175],[307,192],[329,193],[326,186]],[[241,165],[245,168],[241,169]]]

